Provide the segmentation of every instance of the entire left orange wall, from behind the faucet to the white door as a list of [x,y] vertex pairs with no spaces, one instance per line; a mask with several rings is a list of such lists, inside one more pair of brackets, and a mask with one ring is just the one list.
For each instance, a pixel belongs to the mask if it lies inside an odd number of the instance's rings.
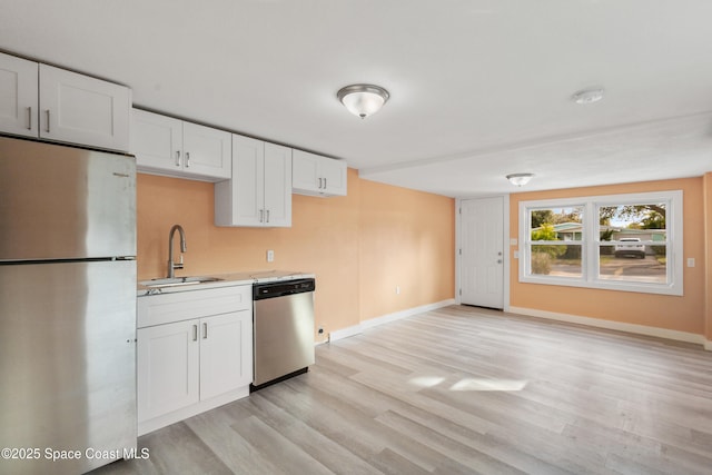
[[[449,198],[362,180],[349,169],[348,196],[294,195],[291,228],[258,229],[216,227],[211,184],[139,174],[137,194],[141,279],[166,274],[168,232],[180,224],[188,251],[176,275],[314,273],[316,324],[326,333],[455,294]],[[383,283],[400,285],[398,298]]]

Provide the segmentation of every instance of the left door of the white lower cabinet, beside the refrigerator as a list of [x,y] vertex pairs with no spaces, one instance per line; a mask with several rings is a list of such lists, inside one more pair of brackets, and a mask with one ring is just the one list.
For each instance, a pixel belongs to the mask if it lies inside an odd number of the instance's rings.
[[138,420],[199,400],[199,320],[137,330]]

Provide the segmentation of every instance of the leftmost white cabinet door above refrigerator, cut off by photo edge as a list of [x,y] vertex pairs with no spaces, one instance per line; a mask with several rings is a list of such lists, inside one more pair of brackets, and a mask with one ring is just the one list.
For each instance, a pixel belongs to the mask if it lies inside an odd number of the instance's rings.
[[0,131],[37,137],[38,63],[0,53]]

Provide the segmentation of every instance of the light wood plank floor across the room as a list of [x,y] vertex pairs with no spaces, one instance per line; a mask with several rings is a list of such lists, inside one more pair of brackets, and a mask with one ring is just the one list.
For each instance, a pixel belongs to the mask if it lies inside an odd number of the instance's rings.
[[452,306],[316,353],[97,473],[712,474],[696,345]]

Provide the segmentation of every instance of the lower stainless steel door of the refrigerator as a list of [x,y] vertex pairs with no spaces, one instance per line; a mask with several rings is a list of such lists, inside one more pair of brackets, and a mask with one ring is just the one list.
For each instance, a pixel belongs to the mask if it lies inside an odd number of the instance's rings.
[[135,339],[136,261],[0,265],[0,441],[41,449],[0,473],[85,473],[135,448]]

